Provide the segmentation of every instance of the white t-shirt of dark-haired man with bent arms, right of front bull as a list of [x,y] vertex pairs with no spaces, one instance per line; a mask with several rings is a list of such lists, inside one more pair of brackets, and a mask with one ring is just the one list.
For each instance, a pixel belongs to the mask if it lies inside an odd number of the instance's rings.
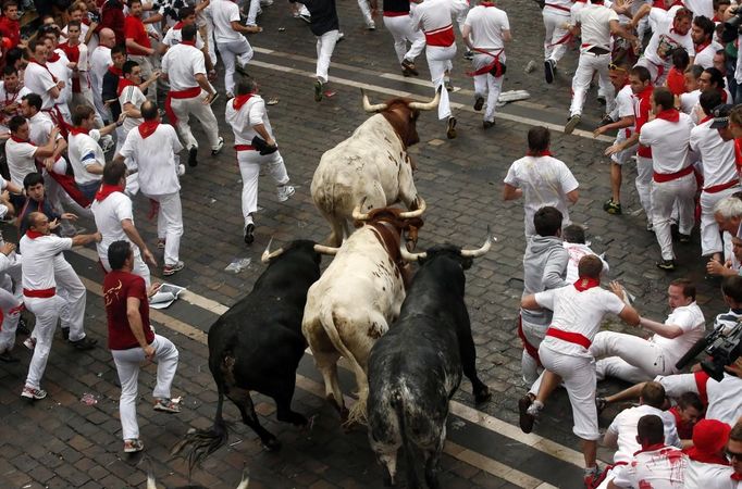
[[577,190],[579,184],[562,161],[552,156],[521,158],[510,165],[504,181],[523,190],[527,236],[535,235],[533,215],[545,205],[558,209],[564,216],[562,224],[570,224],[567,193]]

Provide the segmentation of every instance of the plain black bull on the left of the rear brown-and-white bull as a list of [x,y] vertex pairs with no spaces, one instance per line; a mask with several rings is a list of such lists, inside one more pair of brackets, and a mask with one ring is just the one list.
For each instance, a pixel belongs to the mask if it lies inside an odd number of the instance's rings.
[[294,241],[258,278],[252,291],[224,313],[209,329],[209,369],[217,383],[219,403],[210,429],[186,435],[173,453],[185,452],[193,467],[227,440],[222,418],[226,396],[246,425],[267,449],[281,443],[260,426],[250,390],[273,398],[279,421],[306,426],[307,418],[290,409],[296,369],[307,348],[301,317],[307,290],[320,278],[322,256],[312,241]]

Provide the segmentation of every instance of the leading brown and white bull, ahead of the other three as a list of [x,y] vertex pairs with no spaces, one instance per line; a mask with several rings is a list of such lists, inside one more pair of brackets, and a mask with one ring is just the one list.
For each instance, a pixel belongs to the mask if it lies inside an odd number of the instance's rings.
[[363,109],[375,115],[325,151],[312,178],[312,200],[332,227],[327,244],[339,247],[350,235],[353,211],[363,200],[362,211],[397,202],[410,210],[424,209],[407,148],[420,140],[416,127],[420,111],[435,109],[440,98],[436,93],[424,103],[397,98],[372,105],[363,93]]

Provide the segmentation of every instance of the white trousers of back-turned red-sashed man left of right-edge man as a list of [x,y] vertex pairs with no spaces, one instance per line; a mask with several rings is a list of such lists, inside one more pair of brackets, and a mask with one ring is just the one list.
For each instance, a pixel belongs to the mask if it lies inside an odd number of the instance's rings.
[[694,197],[695,177],[693,174],[661,184],[652,181],[652,224],[663,260],[675,260],[670,220],[676,203],[678,205],[678,230],[682,235],[690,235],[693,230]]

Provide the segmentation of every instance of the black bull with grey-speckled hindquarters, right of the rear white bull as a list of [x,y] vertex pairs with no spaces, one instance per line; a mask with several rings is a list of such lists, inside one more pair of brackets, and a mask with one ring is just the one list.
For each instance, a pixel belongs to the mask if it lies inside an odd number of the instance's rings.
[[[423,261],[423,259],[420,259]],[[463,301],[463,271],[472,264],[453,246],[426,252],[399,318],[369,356],[369,439],[394,484],[396,452],[407,460],[407,484],[419,487],[415,453],[424,452],[425,481],[437,488],[448,401],[471,380],[477,402],[490,399],[477,376],[477,352]],[[417,449],[416,449],[417,447]]]

